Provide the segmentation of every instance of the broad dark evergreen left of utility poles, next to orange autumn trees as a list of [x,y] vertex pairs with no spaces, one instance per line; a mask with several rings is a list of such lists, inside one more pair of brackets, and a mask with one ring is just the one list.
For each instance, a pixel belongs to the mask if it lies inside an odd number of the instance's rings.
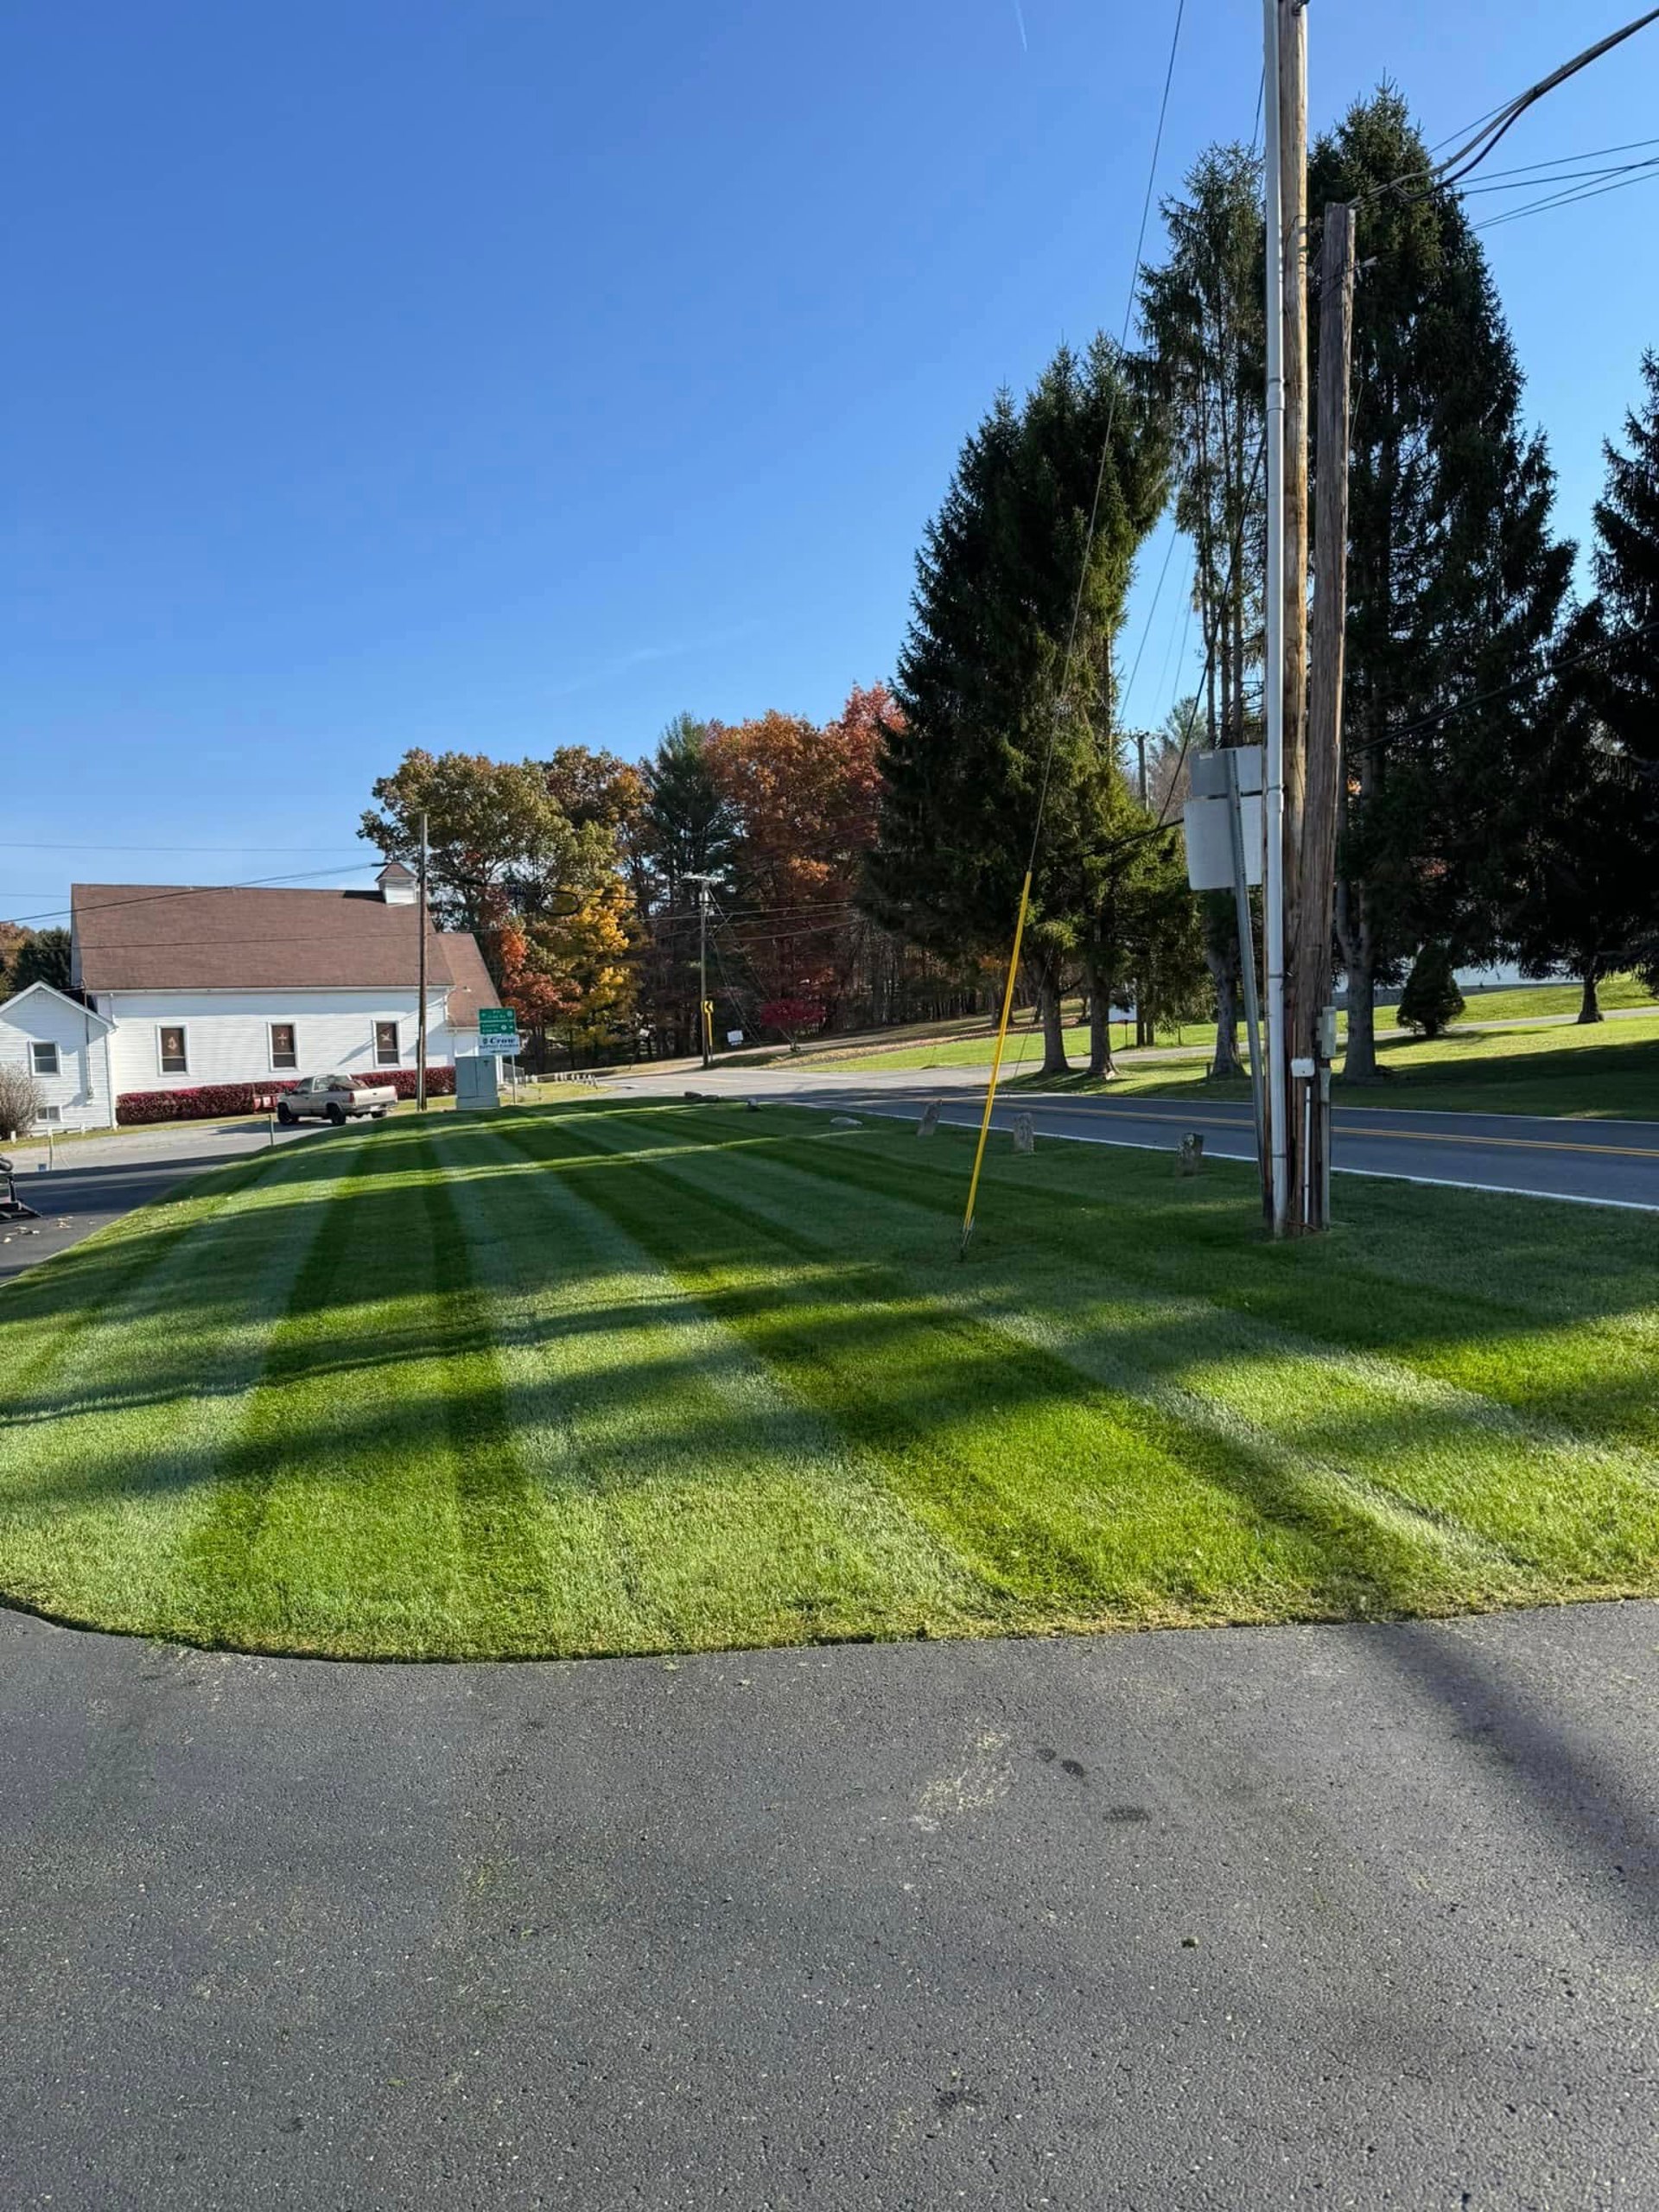
[[[1161,409],[1130,380],[1117,347],[1097,338],[1082,358],[1062,347],[1022,407],[998,394],[962,447],[916,560],[894,684],[898,717],[883,728],[865,905],[916,945],[1004,949],[1046,765],[1026,922],[1046,1073],[1066,1066],[1060,998],[1082,967],[1088,927],[1113,637],[1166,478]],[[1062,699],[1073,604],[1077,650]]]

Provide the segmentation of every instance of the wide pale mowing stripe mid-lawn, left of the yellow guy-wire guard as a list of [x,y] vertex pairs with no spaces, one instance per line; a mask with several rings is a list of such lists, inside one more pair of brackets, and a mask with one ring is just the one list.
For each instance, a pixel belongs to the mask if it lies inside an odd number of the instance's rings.
[[[571,1179],[447,1130],[526,1464],[571,1562],[553,1648],[989,1626],[995,1597]],[[507,1172],[502,1172],[507,1170]],[[690,1528],[714,1544],[686,1544]],[[586,1617],[577,1593],[591,1593]]]

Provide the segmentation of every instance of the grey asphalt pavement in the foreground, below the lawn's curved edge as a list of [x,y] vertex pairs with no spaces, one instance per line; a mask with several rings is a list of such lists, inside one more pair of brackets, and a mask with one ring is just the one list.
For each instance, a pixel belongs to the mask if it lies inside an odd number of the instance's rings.
[[1659,2203],[1659,1606],[365,1668],[0,1613],[0,2201]]

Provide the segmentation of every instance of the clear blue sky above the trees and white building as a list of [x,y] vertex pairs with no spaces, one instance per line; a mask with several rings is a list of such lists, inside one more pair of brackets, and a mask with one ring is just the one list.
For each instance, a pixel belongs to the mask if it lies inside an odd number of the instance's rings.
[[[1391,75],[1438,139],[1628,11],[1323,0],[1314,126]],[[962,434],[1121,325],[1172,18],[9,0],[0,914],[347,880],[407,745],[637,757],[679,708],[825,717],[885,675]],[[1188,0],[1161,188],[1250,137],[1259,27]],[[1504,166],[1655,115],[1659,27]],[[1573,533],[1657,237],[1655,184],[1489,234]],[[1148,721],[1183,675],[1161,560]]]

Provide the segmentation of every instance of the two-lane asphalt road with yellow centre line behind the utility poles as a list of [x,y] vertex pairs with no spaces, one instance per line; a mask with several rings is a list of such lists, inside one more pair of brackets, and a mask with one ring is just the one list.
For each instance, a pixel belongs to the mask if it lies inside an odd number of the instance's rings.
[[[790,1075],[787,1068],[714,1068],[708,1075],[635,1077],[613,1091],[672,1095],[703,1088],[739,1097],[790,1099],[838,1113],[920,1115],[942,1099],[942,1119],[978,1128],[984,1068],[936,1068],[927,1075]],[[1133,1099],[1077,1093],[1002,1093],[995,1128],[1029,1113],[1040,1137],[1175,1150],[1186,1130],[1201,1130],[1208,1152],[1254,1159],[1248,1104]],[[1391,1175],[1427,1183],[1511,1190],[1531,1197],[1584,1199],[1659,1212],[1659,1121],[1568,1121],[1528,1115],[1407,1113],[1338,1106],[1334,1166],[1343,1175]]]

